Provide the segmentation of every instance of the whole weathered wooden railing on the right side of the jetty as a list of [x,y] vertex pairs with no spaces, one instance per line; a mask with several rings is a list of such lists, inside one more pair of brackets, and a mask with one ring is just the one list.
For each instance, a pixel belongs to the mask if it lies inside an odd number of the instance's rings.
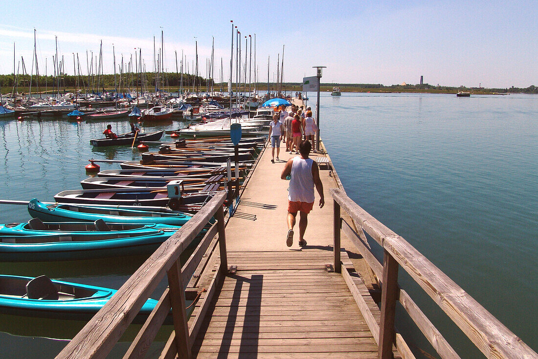
[[[341,272],[361,309],[370,330],[378,343],[378,357],[392,357],[392,347],[406,356],[407,347],[401,336],[395,333],[395,306],[399,301],[424,334],[426,339],[443,358],[459,358],[458,354],[441,333],[422,313],[408,293],[398,286],[398,270],[403,268],[419,284],[437,305],[469,337],[488,358],[537,358],[538,355],[519,337],[497,320],[439,268],[417,251],[407,241],[372,217],[353,202],[345,192],[332,189],[334,199],[334,257],[335,272]],[[341,217],[343,209],[357,226]],[[383,264],[374,257],[367,245],[363,230],[383,247]],[[340,236],[344,232],[359,249],[360,254],[381,280],[381,319],[378,325],[366,303],[358,293],[347,270],[342,271],[340,261]],[[412,354],[409,353],[409,356]]]

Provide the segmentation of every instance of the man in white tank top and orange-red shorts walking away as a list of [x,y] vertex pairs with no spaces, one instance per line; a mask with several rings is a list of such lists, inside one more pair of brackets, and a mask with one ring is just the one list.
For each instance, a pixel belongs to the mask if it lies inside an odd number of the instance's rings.
[[286,245],[293,245],[293,227],[297,212],[301,213],[299,219],[299,246],[306,246],[305,232],[308,225],[308,213],[314,208],[314,187],[320,195],[320,208],[325,204],[323,184],[320,179],[320,170],[317,163],[308,158],[312,144],[309,141],[299,143],[300,156],[295,156],[286,162],[280,178],[289,179],[288,192],[288,235]]

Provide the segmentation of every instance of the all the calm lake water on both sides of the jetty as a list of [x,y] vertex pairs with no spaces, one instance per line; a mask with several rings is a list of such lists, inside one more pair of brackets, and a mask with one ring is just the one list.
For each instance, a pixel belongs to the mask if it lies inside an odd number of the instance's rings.
[[[323,93],[320,102],[322,137],[348,195],[538,350],[538,96]],[[126,120],[111,124],[116,133],[130,130]],[[62,190],[80,188],[89,158],[139,158],[129,147],[93,150],[89,140],[100,137],[104,126],[0,121],[0,198],[53,201]],[[184,123],[145,126],[172,129]],[[29,220],[25,206],[0,209],[0,223]],[[143,261],[0,264],[0,273],[119,288]],[[458,354],[475,357],[459,329],[402,272],[402,286]],[[66,344],[56,339],[80,327],[0,316],[0,356],[53,357]],[[409,322],[400,320],[398,327],[409,333],[410,346],[434,354]],[[112,356],[126,346],[120,343]]]

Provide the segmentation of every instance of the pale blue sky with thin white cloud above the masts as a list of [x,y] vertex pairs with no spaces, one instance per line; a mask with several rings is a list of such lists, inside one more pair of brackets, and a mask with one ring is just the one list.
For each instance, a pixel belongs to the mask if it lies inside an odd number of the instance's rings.
[[[165,39],[165,66],[175,71],[175,54],[187,56],[192,72],[198,41],[200,73],[215,37],[215,58],[228,79],[231,24],[242,35],[256,33],[261,82],[276,72],[284,52],[284,79],[298,82],[327,66],[323,82],[527,87],[538,85],[536,1],[5,1],[0,19],[0,73],[13,72],[24,57],[30,72],[33,29],[37,29],[39,72],[52,67],[54,36],[73,73],[73,52],[86,72],[86,50],[99,52],[112,73],[112,44],[119,63],[141,48],[153,68],[153,36]],[[196,37],[196,39],[195,39]],[[244,38],[243,38],[244,47]],[[244,53],[243,53],[244,56]]]

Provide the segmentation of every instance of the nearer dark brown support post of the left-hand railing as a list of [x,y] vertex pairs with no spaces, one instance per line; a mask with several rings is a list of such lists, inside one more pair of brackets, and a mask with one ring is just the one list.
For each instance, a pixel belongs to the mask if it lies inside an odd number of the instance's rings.
[[187,310],[185,309],[185,291],[181,282],[179,258],[168,270],[168,287],[170,288],[170,304],[172,306],[175,344],[178,348],[178,357],[182,359],[190,358],[189,326],[187,322]]

